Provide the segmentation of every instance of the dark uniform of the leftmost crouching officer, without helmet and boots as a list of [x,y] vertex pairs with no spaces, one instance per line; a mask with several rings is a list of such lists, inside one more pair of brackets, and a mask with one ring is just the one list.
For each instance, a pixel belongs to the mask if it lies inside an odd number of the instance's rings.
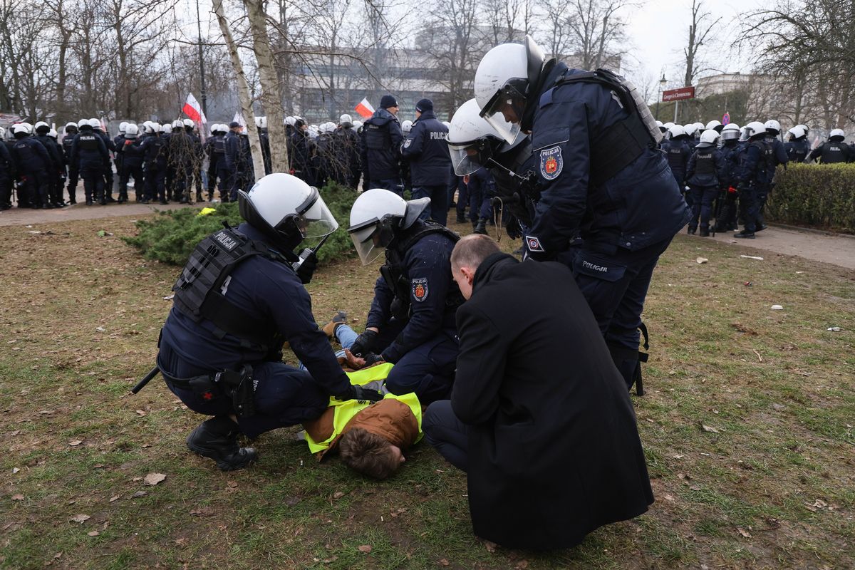
[[[255,438],[318,417],[331,395],[346,394],[351,385],[326,334],[315,323],[309,293],[289,264],[297,256],[270,248],[262,232],[249,224],[236,230],[238,237],[230,230],[216,232],[208,245],[223,248],[225,254],[229,248],[244,247],[239,245],[243,237],[257,244],[262,254],[240,261],[209,293],[192,284],[182,288],[179,279],[173,309],[163,325],[157,365],[169,389],[188,408],[214,416],[240,412],[215,374],[247,372],[250,367],[255,387],[249,391],[250,403],[243,404],[254,408],[254,414],[239,414],[238,423],[241,432]],[[193,255],[198,253],[199,248]],[[188,267],[182,275],[189,274]],[[200,315],[194,315],[188,307],[200,295],[206,304]],[[308,372],[281,361],[285,341]]]

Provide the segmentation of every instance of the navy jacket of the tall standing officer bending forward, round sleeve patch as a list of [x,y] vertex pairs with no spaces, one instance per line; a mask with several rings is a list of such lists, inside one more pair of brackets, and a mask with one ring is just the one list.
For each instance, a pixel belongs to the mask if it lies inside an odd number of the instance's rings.
[[662,152],[642,150],[627,167],[594,185],[590,141],[626,118],[628,110],[602,85],[553,88],[565,72],[576,70],[563,63],[552,69],[534,111],[532,149],[542,190],[525,241],[529,255],[549,259],[578,237],[628,250],[672,238],[690,212]]

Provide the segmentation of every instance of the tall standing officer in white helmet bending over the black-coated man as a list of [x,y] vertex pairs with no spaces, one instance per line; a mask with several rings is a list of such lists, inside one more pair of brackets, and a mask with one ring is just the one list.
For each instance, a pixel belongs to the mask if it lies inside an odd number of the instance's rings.
[[508,143],[531,132],[542,190],[524,256],[571,267],[623,379],[640,383],[647,288],[689,219],[643,97],[606,70],[547,61],[527,37],[484,56],[475,99]]

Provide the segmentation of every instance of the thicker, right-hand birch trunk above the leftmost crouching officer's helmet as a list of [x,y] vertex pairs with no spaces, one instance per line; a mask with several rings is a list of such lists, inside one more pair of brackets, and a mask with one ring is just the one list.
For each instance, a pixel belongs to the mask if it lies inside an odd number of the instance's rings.
[[[268,117],[271,172],[288,172],[288,147],[286,145],[285,114],[282,111],[282,93],[279,76],[274,67],[273,50],[267,29],[267,15],[262,0],[244,0],[246,15],[252,30],[252,50],[258,62],[258,80],[262,85],[262,105]],[[263,172],[263,171],[262,171]]]

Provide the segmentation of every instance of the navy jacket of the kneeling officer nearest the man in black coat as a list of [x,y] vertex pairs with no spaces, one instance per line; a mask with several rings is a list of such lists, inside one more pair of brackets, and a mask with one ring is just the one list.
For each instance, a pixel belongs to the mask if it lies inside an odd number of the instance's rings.
[[[417,221],[407,232],[396,238],[398,243],[406,241],[408,235],[423,227]],[[390,247],[393,247],[392,244]],[[441,332],[456,331],[455,313],[449,308],[447,299],[457,295],[457,284],[451,277],[451,250],[454,242],[441,233],[430,233],[419,239],[404,252],[404,279],[409,283],[410,319],[394,342],[382,350],[383,360],[397,362],[408,351],[426,343]],[[374,284],[374,300],[371,302],[365,327],[382,328],[392,319],[392,301],[395,292],[380,276]]]

